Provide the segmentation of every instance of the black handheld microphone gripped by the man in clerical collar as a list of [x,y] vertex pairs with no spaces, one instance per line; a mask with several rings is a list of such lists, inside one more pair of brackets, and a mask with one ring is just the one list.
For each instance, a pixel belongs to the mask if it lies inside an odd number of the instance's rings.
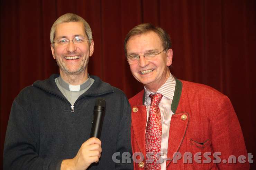
[[93,110],[93,121],[92,121],[92,130],[91,130],[91,136],[96,137],[100,139],[102,124],[103,124],[103,118],[105,116],[105,107],[106,107],[106,101],[103,98],[97,98]]

